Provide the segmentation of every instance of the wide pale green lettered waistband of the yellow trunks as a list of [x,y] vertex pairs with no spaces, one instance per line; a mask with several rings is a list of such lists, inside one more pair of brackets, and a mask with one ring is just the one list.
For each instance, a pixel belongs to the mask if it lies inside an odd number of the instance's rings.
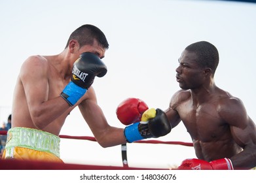
[[27,127],[12,127],[7,133],[5,148],[16,146],[50,152],[60,157],[60,137],[46,131]]

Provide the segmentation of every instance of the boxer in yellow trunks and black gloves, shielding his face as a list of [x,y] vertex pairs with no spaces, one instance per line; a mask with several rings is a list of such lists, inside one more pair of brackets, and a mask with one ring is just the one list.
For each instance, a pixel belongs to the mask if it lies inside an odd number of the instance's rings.
[[[96,76],[103,77],[107,73],[107,66],[101,60],[107,48],[109,44],[103,32],[85,24],[71,33],[60,54],[29,56],[22,63],[14,87],[12,129],[8,133],[5,159],[59,161],[58,136],[67,116],[76,107],[103,148],[170,132],[170,124],[160,110],[154,111],[155,118],[149,116],[149,122],[136,121],[126,126],[125,131],[109,125],[92,87]],[[119,116],[130,120],[125,108],[119,109],[123,109]],[[127,121],[124,124],[129,125]]]

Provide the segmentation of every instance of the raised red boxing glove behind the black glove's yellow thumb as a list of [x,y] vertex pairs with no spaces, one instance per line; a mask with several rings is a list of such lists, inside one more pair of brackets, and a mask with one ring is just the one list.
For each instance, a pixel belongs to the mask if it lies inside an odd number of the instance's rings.
[[147,110],[147,104],[141,99],[128,98],[117,107],[117,118],[124,125],[140,122],[141,116]]

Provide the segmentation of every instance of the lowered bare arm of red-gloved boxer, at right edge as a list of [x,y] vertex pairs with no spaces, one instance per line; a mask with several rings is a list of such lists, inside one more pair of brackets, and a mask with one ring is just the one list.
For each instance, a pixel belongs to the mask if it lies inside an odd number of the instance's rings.
[[249,118],[242,101],[237,98],[226,99],[219,105],[219,115],[230,125],[232,137],[244,148],[231,157],[234,169],[251,169],[256,166],[256,127]]

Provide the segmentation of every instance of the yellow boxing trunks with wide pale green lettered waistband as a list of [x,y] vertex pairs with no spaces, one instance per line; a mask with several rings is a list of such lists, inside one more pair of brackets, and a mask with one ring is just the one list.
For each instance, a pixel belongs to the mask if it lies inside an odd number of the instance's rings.
[[7,133],[3,159],[63,162],[60,159],[60,137],[27,127],[13,127]]

